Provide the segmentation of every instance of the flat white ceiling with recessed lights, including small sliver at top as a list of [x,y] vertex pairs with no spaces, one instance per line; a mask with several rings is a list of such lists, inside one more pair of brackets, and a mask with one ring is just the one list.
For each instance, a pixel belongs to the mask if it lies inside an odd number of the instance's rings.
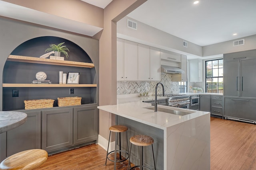
[[194,1],[147,0],[128,17],[200,46],[256,34],[256,0]]

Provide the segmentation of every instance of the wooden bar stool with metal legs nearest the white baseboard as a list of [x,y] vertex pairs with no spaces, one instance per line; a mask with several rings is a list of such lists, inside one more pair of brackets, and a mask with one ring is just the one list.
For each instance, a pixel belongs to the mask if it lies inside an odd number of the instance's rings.
[[[128,128],[126,126],[123,126],[123,125],[114,125],[114,126],[111,126],[109,128],[110,130],[110,133],[109,133],[109,139],[108,139],[108,148],[109,148],[109,143],[110,143],[110,136],[111,136],[111,132],[115,132],[115,137],[116,137],[116,140],[115,140],[115,150],[112,150],[111,152],[108,152],[108,149],[107,149],[107,155],[106,155],[106,161],[105,161],[105,164],[107,164],[107,159],[114,162],[114,170],[116,170],[116,162],[123,162],[125,160],[128,159],[129,157],[129,144],[128,144],[128,137],[127,137],[127,131],[128,131]],[[121,132],[126,132],[126,141],[127,141],[127,147],[128,147],[128,151],[125,151],[125,150],[122,150],[121,149]],[[117,141],[118,141],[118,136],[119,135],[119,150],[117,150]],[[109,154],[112,154],[114,152],[114,160],[110,159],[108,157]],[[119,152],[119,159],[117,160],[117,152]],[[124,152],[125,154],[127,154],[127,158],[125,159],[122,159],[122,155],[121,155],[121,152]]]

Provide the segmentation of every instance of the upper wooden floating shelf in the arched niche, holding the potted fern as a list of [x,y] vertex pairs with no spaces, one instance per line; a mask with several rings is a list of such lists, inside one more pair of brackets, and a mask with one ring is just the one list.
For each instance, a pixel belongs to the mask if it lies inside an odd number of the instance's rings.
[[62,61],[62,60],[53,60],[53,59],[42,59],[38,57],[26,57],[20,55],[9,55],[7,61],[16,61],[23,63],[37,63],[37,64],[51,64],[51,65],[59,65],[59,66],[75,66],[75,67],[86,67],[93,68],[93,63],[83,63],[76,61]]

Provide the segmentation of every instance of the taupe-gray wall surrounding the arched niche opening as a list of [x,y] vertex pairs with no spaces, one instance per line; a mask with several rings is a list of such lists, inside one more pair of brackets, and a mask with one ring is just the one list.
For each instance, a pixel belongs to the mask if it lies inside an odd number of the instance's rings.
[[[96,74],[99,74],[99,41],[83,35],[64,32],[57,29],[30,24],[9,18],[0,18],[0,110],[2,110],[2,75],[3,68],[8,56],[18,45],[30,39],[42,36],[54,36],[68,39],[80,46],[95,65]],[[93,82],[98,85],[99,78]],[[98,88],[97,88],[97,104],[98,104]]]

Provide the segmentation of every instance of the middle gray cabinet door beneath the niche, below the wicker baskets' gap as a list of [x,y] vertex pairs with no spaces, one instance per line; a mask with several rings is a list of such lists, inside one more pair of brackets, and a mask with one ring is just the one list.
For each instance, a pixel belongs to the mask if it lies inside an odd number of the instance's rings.
[[73,108],[42,111],[42,149],[58,150],[73,143]]

